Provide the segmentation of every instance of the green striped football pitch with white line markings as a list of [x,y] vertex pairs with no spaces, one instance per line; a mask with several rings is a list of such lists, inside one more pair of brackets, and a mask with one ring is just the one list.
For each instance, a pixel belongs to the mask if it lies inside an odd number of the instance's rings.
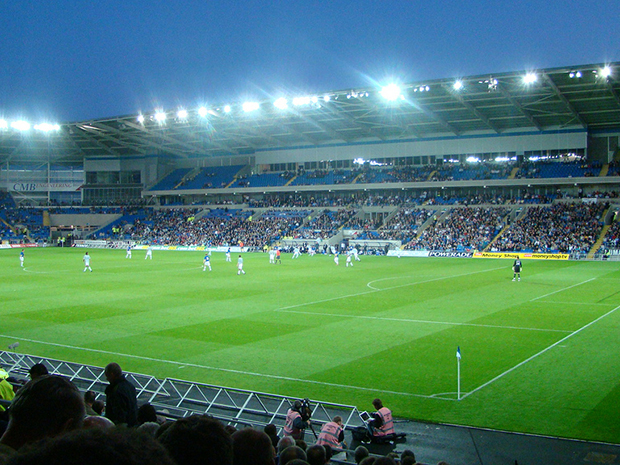
[[[0,343],[398,417],[620,443],[618,264],[0,250]],[[457,400],[460,347],[461,395]]]

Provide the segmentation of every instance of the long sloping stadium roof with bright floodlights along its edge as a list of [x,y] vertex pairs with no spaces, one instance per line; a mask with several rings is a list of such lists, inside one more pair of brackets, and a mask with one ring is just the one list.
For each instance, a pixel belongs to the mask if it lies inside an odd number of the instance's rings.
[[[18,130],[0,121],[0,162],[202,158],[329,144],[562,129],[620,130],[620,63],[485,74],[283,96]],[[527,77],[526,77],[527,76]],[[296,98],[295,98],[296,97]],[[228,107],[228,108],[226,108]],[[249,109],[249,108],[246,108]],[[142,120],[140,122],[140,120]]]

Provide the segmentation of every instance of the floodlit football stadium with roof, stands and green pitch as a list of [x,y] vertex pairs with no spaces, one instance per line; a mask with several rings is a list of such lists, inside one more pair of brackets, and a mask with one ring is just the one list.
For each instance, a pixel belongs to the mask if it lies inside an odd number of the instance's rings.
[[[114,362],[160,417],[280,435],[308,399],[308,444],[338,414],[425,463],[618,463],[619,75],[0,120],[0,367],[104,400]],[[373,399],[388,440],[354,434]]]

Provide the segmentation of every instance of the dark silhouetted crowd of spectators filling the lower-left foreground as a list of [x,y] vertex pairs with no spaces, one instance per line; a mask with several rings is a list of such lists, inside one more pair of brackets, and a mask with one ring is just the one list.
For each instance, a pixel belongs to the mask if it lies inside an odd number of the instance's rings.
[[[116,363],[105,368],[109,384],[99,411],[94,392],[82,394],[44,364],[30,376],[25,384],[1,378],[17,392],[8,417],[0,416],[0,465],[325,465],[341,451],[286,430],[279,437],[274,424],[237,429],[199,414],[168,420],[149,403],[138,407],[136,389]],[[350,458],[362,465],[417,463],[408,449],[377,456],[359,446]]]

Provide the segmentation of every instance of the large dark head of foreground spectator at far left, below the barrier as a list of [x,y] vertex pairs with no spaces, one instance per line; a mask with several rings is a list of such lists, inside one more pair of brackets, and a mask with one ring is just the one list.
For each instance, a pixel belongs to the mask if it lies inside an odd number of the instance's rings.
[[0,445],[18,451],[39,439],[81,428],[84,414],[82,394],[71,381],[41,376],[26,383],[13,399]]

